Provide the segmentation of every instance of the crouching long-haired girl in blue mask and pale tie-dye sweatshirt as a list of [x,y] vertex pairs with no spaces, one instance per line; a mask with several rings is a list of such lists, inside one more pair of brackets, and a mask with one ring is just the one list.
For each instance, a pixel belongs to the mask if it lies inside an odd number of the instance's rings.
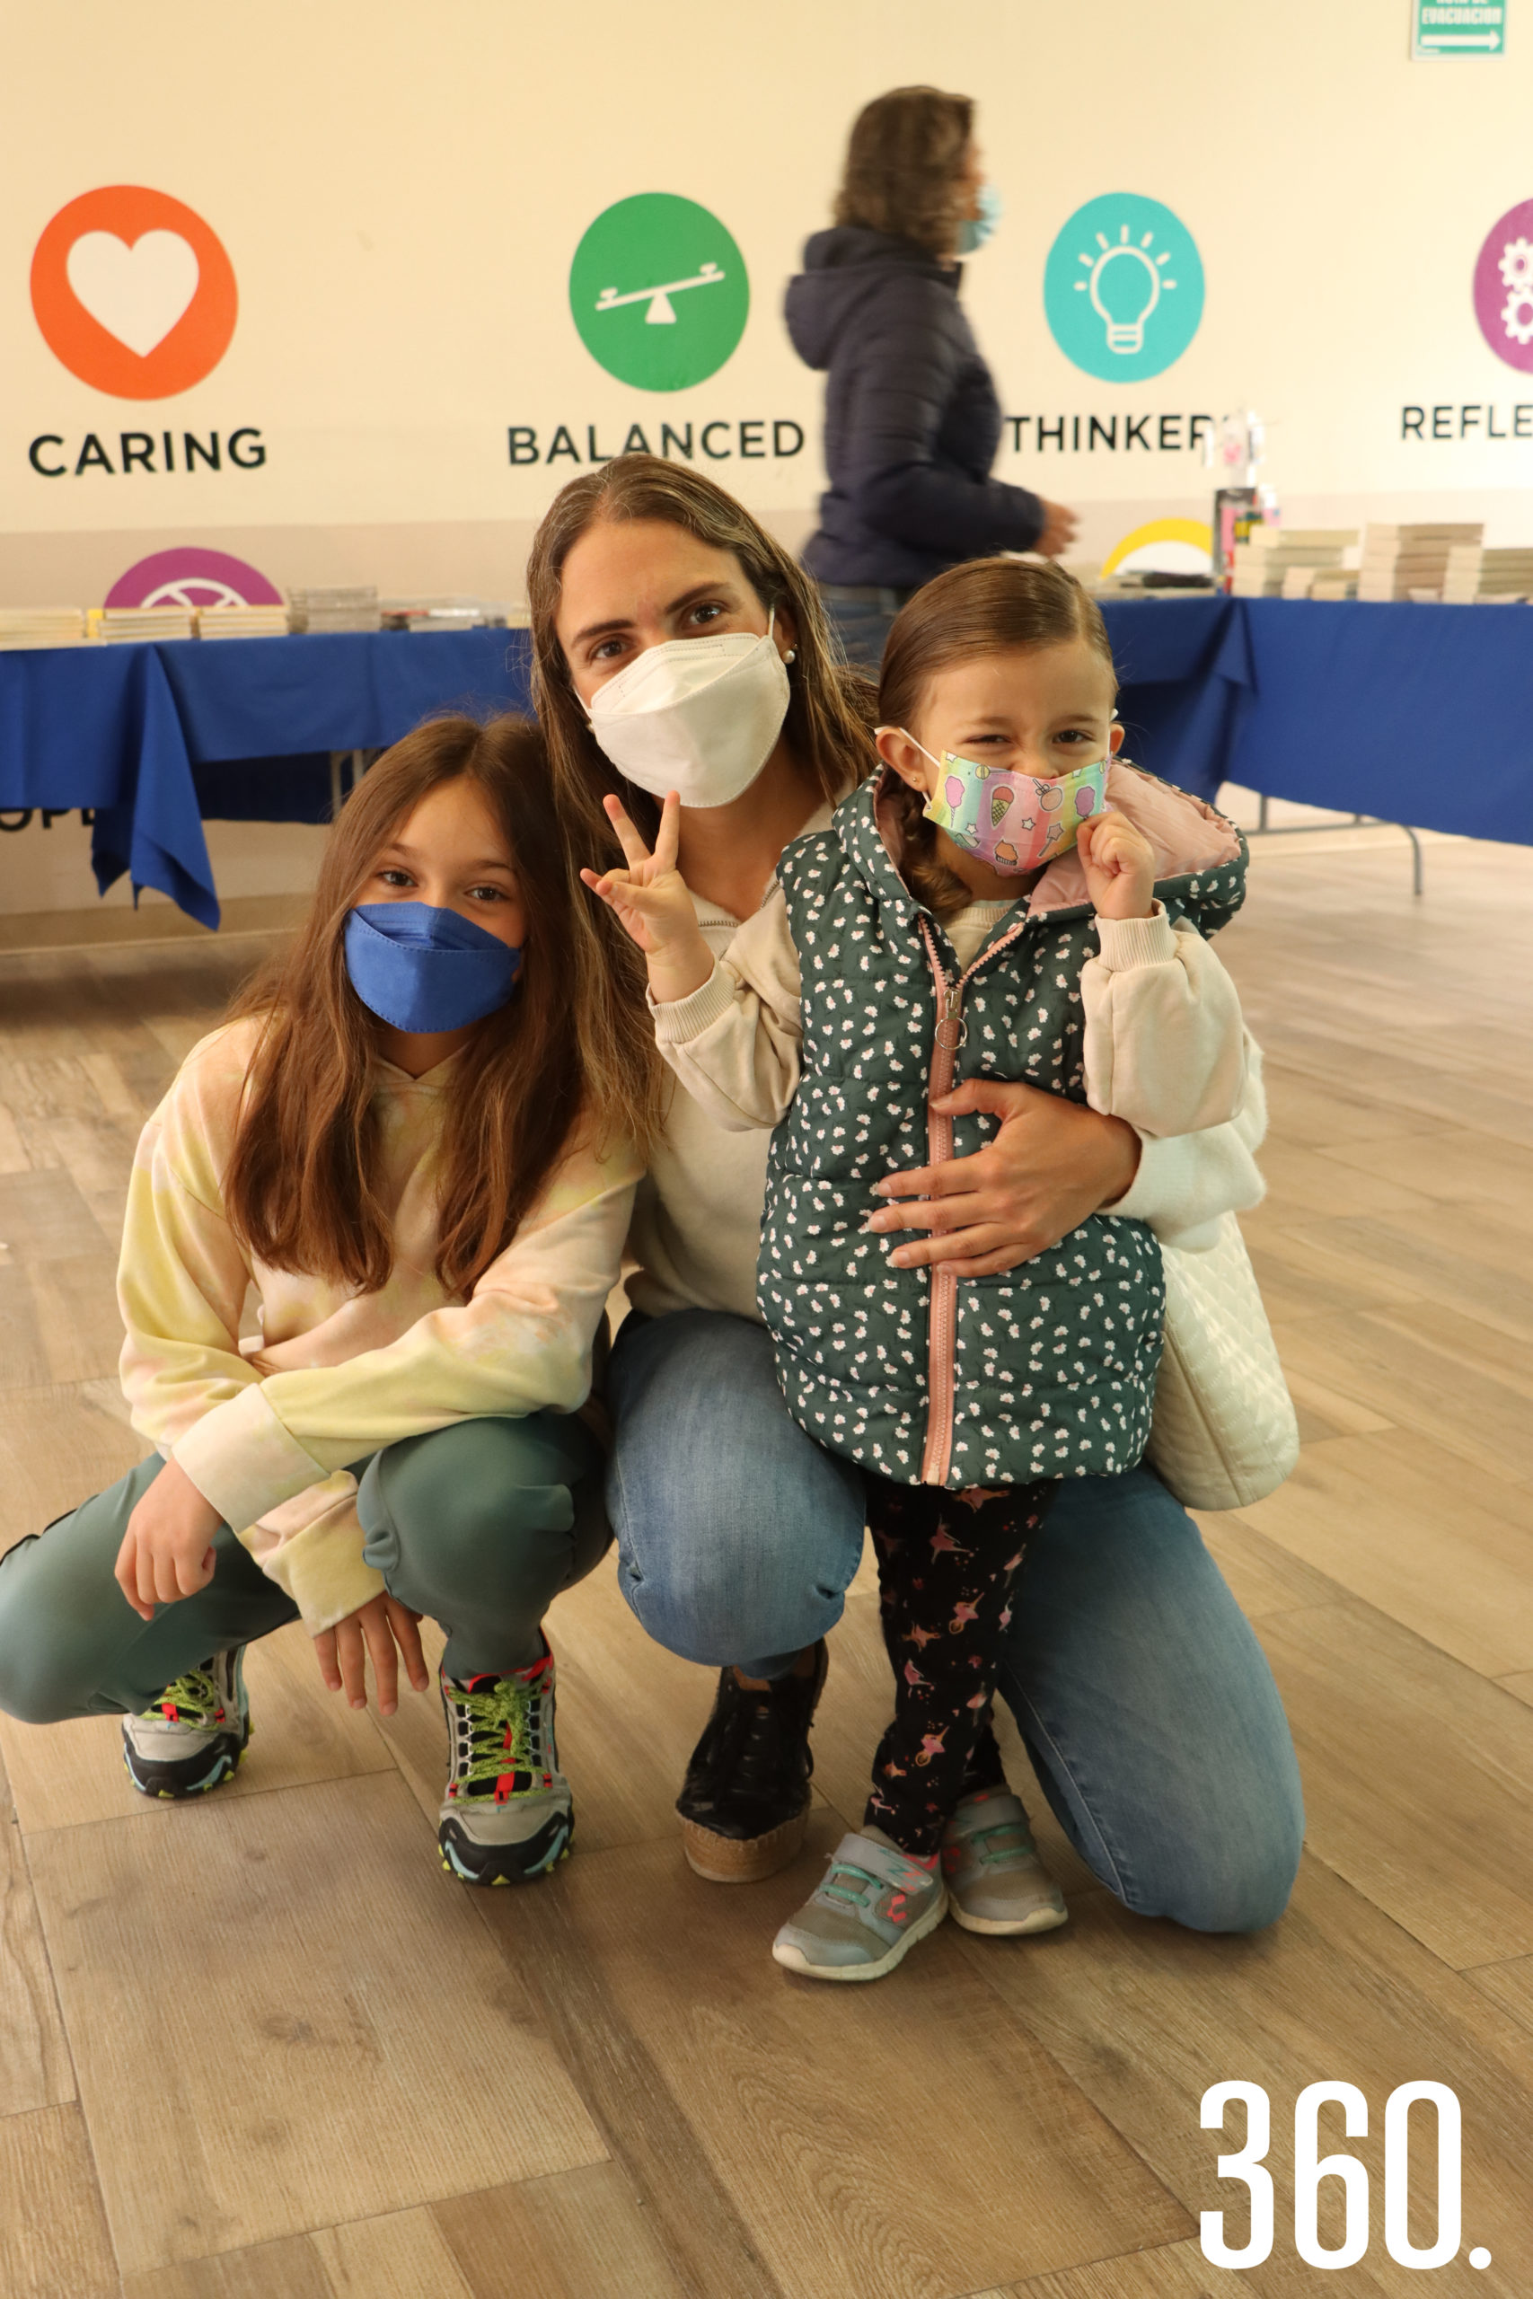
[[540,1623],[609,1538],[581,1407],[664,1078],[614,963],[536,729],[379,759],[290,954],[142,1131],[117,1294],[154,1453],[0,1561],[2,1708],[122,1715],[133,1786],[200,1796],[251,1736],[253,1637],[301,1618],[352,1708],[370,1653],[391,1713],[432,1614],[444,1867],[568,1851]]

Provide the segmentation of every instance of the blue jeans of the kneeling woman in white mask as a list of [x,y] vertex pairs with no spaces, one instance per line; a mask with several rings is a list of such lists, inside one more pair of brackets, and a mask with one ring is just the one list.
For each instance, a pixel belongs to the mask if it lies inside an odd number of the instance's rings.
[[[772,1343],[742,1317],[630,1317],[609,1402],[630,1607],[685,1660],[781,1674],[841,1618],[860,1474],[788,1418]],[[1282,1915],[1303,1841],[1294,1743],[1262,1646],[1165,1485],[1145,1469],[1066,1481],[1014,1614],[1000,1692],[1092,1874],[1193,1931]]]

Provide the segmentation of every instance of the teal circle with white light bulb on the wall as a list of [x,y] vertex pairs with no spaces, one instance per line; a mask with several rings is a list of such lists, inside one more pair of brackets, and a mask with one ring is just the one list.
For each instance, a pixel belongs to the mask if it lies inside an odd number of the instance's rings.
[[1138,191],[1087,200],[1048,251],[1043,315],[1076,368],[1140,384],[1181,359],[1197,333],[1197,244],[1181,216]]

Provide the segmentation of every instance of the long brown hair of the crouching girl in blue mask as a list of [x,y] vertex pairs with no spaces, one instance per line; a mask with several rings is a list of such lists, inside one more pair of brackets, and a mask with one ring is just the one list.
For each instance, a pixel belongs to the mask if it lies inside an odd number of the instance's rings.
[[[379,853],[427,791],[467,775],[515,860],[526,915],[513,998],[453,1064],[437,1152],[437,1276],[467,1294],[526,1218],[577,1129],[646,1154],[660,1067],[639,963],[591,901],[561,837],[547,752],[526,720],[444,717],[388,749],[347,800],[303,926],[234,1002],[264,1028],[251,1064],[223,1205],[241,1246],[274,1269],[377,1292],[393,1269],[379,1195],[375,1025],[352,989],[345,922]],[[611,977],[634,975],[614,998]]]

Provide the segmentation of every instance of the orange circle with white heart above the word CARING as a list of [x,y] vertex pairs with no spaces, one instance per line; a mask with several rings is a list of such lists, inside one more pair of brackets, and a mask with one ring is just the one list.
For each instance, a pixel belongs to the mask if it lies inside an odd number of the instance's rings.
[[60,207],[32,255],[32,310],[92,391],[165,400],[218,366],[239,315],[234,267],[195,209],[142,184]]

